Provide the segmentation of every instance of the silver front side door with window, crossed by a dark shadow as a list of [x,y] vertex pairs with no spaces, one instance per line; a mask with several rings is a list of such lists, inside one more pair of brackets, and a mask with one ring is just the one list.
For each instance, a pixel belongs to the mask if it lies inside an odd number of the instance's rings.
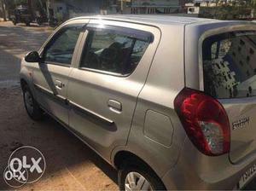
[[64,124],[68,124],[68,76],[80,32],[78,26],[67,26],[57,32],[45,46],[41,63],[33,70],[38,103]]

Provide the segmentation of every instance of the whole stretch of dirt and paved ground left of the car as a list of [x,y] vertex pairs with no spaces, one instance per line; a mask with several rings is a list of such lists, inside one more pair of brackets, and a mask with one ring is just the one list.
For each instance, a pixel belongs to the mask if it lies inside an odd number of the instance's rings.
[[36,123],[23,107],[20,58],[49,36],[46,27],[0,23],[0,190],[9,189],[3,171],[15,148],[38,148],[47,167],[39,182],[23,190],[117,190],[117,172],[53,119]]

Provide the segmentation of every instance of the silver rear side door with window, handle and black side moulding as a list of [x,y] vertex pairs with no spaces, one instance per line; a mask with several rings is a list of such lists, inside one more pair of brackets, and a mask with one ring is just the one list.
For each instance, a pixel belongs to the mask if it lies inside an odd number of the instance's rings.
[[160,32],[152,26],[90,20],[85,34],[68,85],[69,125],[109,159],[114,147],[126,144]]

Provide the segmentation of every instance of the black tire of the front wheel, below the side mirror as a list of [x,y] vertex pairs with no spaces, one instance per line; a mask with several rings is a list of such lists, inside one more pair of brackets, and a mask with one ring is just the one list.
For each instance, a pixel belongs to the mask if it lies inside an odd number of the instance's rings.
[[[23,101],[26,108],[26,113],[28,114],[28,116],[35,121],[40,121],[44,119],[44,111],[39,107],[38,102],[32,96],[32,91],[29,89],[28,85],[23,86],[22,93],[23,93]],[[29,94],[31,96],[32,107],[30,108],[28,108],[26,104],[26,101],[27,101],[26,94]]]

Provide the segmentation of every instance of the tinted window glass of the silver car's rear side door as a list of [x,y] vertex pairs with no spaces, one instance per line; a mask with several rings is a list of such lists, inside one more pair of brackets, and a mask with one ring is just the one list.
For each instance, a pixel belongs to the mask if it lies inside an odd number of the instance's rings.
[[130,74],[151,43],[151,34],[129,30],[120,27],[88,27],[80,67]]

